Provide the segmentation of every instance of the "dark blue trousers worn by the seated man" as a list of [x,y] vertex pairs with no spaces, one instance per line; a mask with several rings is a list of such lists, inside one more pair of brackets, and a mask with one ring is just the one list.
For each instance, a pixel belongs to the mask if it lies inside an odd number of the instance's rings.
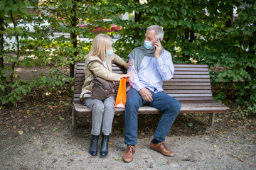
[[137,129],[138,129],[138,111],[142,105],[157,108],[164,112],[157,125],[154,138],[161,142],[165,141],[165,137],[171,130],[179,111],[181,110],[181,103],[168,94],[160,91],[152,94],[153,101],[148,102],[142,99],[139,92],[133,88],[127,92],[127,102],[125,104],[125,130],[124,130],[124,144],[137,145]]

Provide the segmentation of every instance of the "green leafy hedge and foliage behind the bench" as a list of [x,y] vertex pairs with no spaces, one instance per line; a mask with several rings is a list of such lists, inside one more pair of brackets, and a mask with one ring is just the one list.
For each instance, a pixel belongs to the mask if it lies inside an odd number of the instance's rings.
[[[246,4],[246,7],[242,7],[242,4]],[[27,6],[37,10],[28,13]],[[235,8],[240,17],[233,21]],[[162,26],[165,31],[162,45],[171,52],[174,62],[208,64],[212,83],[220,86],[215,100],[223,101],[232,92],[243,114],[255,113],[255,8],[256,2],[252,0],[148,0],[147,3],[139,0],[48,0],[40,5],[31,1],[1,1],[1,103],[15,103],[26,96],[31,88],[38,86],[54,90],[56,86],[70,84],[72,90],[75,63],[82,61],[90,50],[90,42],[81,42],[78,35],[95,36],[78,26],[86,21],[105,27],[110,23],[122,26],[121,38],[115,42],[114,48],[124,59],[134,47],[142,45],[148,26]],[[49,11],[53,16],[44,15],[42,10]],[[122,20],[119,15],[126,12],[134,13],[134,16]],[[28,33],[26,29],[9,28],[9,22],[18,23],[21,18],[31,19],[39,15],[51,23],[53,30],[69,33],[70,37],[54,38],[53,33],[48,35],[50,33],[39,29],[36,33]],[[111,18],[112,21],[103,23],[102,18]],[[16,36],[16,50],[4,49],[4,35]],[[28,40],[29,35],[33,40]],[[21,38],[24,40],[21,41]],[[28,47],[31,50],[28,51]],[[16,57],[7,55],[10,52],[15,52]],[[25,57],[21,60],[20,56]],[[14,79],[15,67],[19,65],[51,68],[48,75],[27,81]],[[69,72],[63,74],[62,68]],[[11,76],[7,76],[7,72]],[[229,90],[225,90],[225,87]]]

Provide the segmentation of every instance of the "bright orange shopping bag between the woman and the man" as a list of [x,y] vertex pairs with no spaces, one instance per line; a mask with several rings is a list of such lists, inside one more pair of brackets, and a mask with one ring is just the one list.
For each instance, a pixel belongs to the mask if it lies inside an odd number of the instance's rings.
[[124,77],[120,80],[118,91],[117,91],[117,98],[115,106],[116,108],[124,108],[126,103],[126,81],[129,79]]

